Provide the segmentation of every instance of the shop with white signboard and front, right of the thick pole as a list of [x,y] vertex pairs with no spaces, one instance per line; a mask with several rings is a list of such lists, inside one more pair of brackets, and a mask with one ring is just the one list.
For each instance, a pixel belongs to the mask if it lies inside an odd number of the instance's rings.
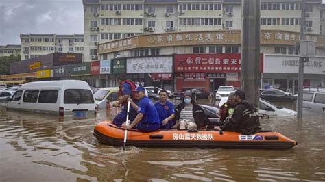
[[[298,55],[265,55],[261,87],[272,85],[274,88],[297,93]],[[324,86],[325,57],[313,57],[304,64],[304,87]]]

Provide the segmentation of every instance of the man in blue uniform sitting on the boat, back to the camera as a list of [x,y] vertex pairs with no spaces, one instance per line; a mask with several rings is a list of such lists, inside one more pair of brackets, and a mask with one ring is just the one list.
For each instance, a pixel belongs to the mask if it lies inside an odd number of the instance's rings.
[[151,99],[145,96],[145,88],[139,87],[136,88],[136,92],[138,93],[139,102],[134,103],[132,99],[128,99],[132,107],[138,112],[134,120],[130,125],[126,125],[123,123],[122,127],[124,129],[137,129],[143,132],[152,132],[158,131],[160,128],[159,116],[152,103]]

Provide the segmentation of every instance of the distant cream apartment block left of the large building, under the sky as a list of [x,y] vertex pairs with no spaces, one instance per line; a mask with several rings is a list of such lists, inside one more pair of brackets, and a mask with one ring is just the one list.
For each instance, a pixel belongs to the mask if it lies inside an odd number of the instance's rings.
[[84,53],[84,35],[21,34],[21,60],[50,53]]

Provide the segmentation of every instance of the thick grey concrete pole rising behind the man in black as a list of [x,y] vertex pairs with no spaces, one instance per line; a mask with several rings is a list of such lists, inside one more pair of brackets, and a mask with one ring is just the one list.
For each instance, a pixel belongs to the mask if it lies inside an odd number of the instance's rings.
[[241,88],[258,105],[260,70],[260,0],[242,0]]

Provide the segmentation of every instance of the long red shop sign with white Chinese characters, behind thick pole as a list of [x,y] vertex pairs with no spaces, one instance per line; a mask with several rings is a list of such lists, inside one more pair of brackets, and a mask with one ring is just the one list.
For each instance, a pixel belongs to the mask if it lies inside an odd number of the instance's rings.
[[[263,72],[263,54],[260,61]],[[176,54],[174,68],[176,73],[240,73],[241,54]]]

